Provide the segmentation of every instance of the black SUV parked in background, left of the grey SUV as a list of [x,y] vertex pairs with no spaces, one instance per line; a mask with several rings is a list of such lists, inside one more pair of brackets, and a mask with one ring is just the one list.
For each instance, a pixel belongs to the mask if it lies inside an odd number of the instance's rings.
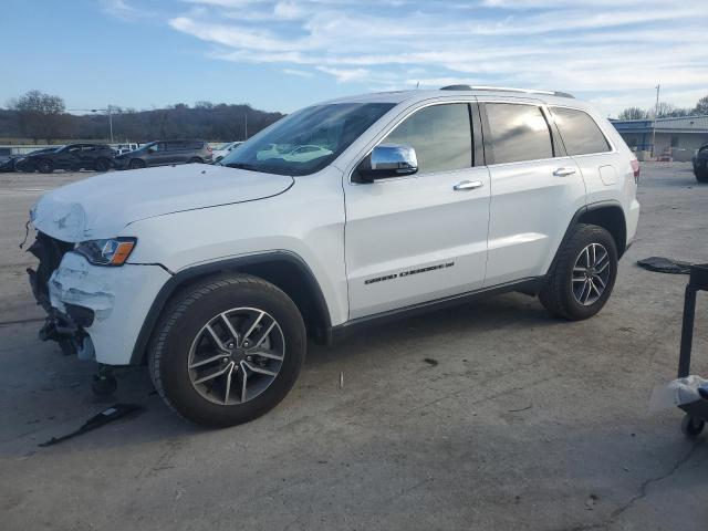
[[31,153],[22,162],[25,171],[51,174],[55,169],[107,171],[113,166],[113,150],[106,144],[69,144],[55,149]]

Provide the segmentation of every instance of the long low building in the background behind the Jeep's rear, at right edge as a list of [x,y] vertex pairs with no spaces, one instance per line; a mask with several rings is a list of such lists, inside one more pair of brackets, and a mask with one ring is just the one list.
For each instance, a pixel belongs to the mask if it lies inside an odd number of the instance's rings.
[[652,150],[652,134],[656,122],[656,149],[658,157],[688,162],[704,144],[708,144],[708,116],[679,118],[613,119],[617,132],[632,149]]

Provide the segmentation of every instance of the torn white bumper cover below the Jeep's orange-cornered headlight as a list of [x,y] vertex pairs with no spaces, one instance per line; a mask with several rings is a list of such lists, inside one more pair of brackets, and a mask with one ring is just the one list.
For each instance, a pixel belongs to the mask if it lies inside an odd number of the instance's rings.
[[80,354],[87,336],[98,363],[127,365],[147,311],[169,277],[159,266],[106,268],[67,252],[48,282],[50,333],[73,335]]

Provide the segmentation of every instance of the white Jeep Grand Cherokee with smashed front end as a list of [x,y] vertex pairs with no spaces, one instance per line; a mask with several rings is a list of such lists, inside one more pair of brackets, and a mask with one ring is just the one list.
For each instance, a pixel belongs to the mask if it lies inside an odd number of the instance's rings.
[[308,337],[513,290],[594,315],[635,235],[638,173],[613,126],[563,93],[460,85],[314,105],[219,165],[42,197],[41,336],[104,376],[147,364],[189,420],[244,423],[292,387]]

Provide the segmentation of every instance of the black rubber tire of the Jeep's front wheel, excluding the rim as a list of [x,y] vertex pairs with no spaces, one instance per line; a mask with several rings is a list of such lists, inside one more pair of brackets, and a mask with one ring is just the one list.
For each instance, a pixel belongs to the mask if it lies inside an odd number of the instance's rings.
[[[260,394],[243,403],[216,404],[197,391],[196,382],[192,384],[189,355],[205,325],[235,308],[258,309],[277,321],[283,358],[277,376]],[[273,284],[243,274],[207,279],[179,293],[160,319],[148,365],[155,388],[168,406],[192,423],[226,427],[248,423],[275,407],[295,383],[305,351],[305,326],[298,306]]]

